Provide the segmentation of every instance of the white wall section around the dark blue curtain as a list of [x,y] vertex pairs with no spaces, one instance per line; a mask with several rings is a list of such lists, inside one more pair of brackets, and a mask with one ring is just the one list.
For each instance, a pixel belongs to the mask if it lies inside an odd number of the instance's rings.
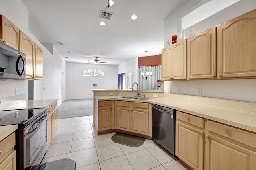
[[[137,61],[137,62],[136,62]],[[127,88],[127,73],[132,73],[132,83],[138,82],[138,57],[134,57],[124,63],[121,63],[117,66],[117,73],[125,73],[125,84],[124,84],[124,89]]]

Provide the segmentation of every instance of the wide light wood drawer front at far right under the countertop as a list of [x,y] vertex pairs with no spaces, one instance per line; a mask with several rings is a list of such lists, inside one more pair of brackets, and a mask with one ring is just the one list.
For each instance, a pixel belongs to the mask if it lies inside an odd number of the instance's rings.
[[256,148],[256,134],[207,120],[207,130],[234,141]]

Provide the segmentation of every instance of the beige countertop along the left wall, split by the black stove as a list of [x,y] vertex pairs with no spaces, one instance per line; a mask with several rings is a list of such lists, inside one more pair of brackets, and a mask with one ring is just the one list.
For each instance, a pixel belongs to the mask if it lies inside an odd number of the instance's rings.
[[[18,109],[36,109],[36,108],[47,108],[57,102],[57,99],[46,99],[46,100],[26,100],[13,104],[11,106],[2,107],[0,111],[3,110],[18,110]],[[7,125],[0,126],[0,141],[10,135],[18,129],[18,125]]]

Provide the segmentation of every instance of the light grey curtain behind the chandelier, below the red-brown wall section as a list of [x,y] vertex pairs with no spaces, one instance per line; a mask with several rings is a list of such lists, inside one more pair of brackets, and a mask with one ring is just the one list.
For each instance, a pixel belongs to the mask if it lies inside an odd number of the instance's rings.
[[[152,78],[142,78],[141,73],[144,72],[146,74],[146,67],[147,72],[152,72]],[[162,66],[141,66],[138,67],[138,85],[140,90],[159,90],[157,80],[161,80],[162,77]],[[162,85],[162,88],[164,86]]]

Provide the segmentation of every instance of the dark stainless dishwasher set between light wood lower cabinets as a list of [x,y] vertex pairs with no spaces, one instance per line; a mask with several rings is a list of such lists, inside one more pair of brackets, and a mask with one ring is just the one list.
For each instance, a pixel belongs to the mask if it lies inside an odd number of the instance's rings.
[[175,110],[152,104],[152,139],[175,155]]

